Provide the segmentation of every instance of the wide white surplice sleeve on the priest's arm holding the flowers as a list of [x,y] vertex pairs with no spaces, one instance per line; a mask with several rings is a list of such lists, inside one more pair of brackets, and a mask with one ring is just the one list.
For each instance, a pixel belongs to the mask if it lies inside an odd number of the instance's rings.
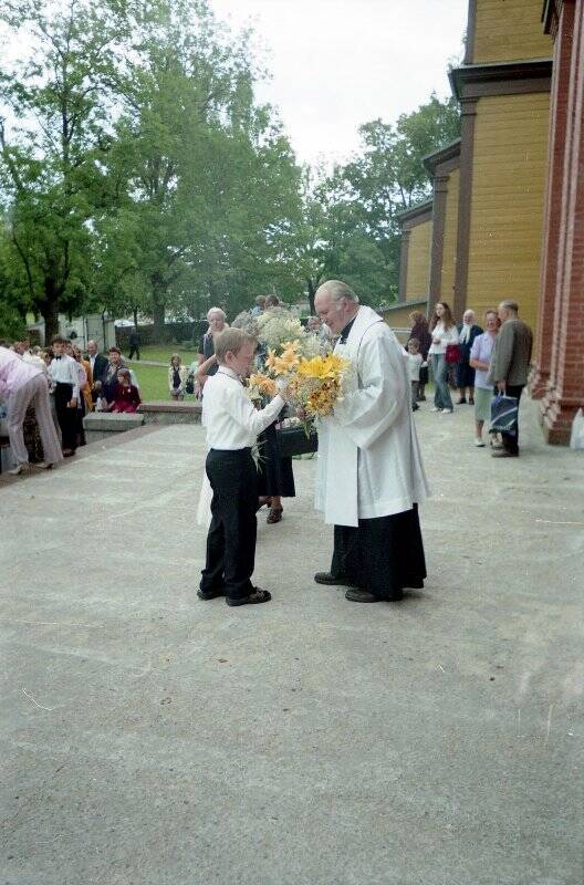
[[406,362],[385,334],[363,341],[358,355],[361,388],[345,394],[334,407],[332,420],[353,442],[366,449],[401,413],[407,398]]

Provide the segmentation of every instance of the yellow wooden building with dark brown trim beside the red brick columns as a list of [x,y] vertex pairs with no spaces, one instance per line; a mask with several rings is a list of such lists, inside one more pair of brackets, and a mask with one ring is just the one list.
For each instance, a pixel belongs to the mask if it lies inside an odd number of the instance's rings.
[[[429,311],[441,300],[458,320],[467,306],[480,319],[512,298],[535,330],[553,50],[541,11],[541,0],[469,2],[465,63],[450,73],[461,137],[425,160],[434,179]],[[410,272],[408,261],[406,293]]]

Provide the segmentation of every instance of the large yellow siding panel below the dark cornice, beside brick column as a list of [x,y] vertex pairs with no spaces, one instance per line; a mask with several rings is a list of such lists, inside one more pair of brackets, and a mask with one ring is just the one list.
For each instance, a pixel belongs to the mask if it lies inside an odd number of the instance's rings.
[[480,316],[519,301],[535,331],[550,96],[481,98],[477,108],[466,303]]

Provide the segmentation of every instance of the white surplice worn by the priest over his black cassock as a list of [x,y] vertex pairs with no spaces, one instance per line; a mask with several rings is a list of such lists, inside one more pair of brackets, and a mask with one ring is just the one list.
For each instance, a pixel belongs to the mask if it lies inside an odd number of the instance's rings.
[[319,421],[316,509],[333,525],[410,510],[430,492],[404,348],[375,311],[361,306],[335,353],[356,372],[333,414]]

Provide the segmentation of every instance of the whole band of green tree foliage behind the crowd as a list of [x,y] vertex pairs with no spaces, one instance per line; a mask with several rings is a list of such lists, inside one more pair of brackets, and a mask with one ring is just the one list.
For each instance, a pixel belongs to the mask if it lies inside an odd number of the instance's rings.
[[28,56],[0,74],[0,298],[28,310],[164,320],[258,294],[313,298],[338,277],[377,305],[397,292],[396,216],[426,197],[421,158],[458,135],[435,95],[331,174],[301,170],[249,34],[207,0],[9,0]]

